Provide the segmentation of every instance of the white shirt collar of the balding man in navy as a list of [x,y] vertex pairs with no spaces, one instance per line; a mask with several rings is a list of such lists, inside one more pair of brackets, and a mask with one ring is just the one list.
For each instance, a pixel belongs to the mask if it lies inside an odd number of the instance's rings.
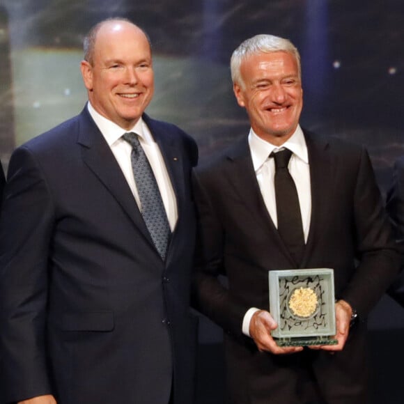
[[116,123],[109,121],[109,119],[102,116],[98,111],[95,111],[94,107],[91,105],[91,102],[89,101],[87,103],[87,108],[88,112],[91,115],[91,118],[93,118],[95,122],[95,125],[98,126],[98,129],[102,133],[102,136],[107,141],[108,146],[113,145],[116,141],[121,139],[123,134],[127,132],[135,132],[141,138],[143,138],[143,140],[146,141],[146,143],[150,143],[151,141],[153,141],[153,139],[150,138],[150,133],[146,129],[147,126],[146,123],[144,123],[143,118],[140,117],[137,123],[134,124],[132,129],[124,130],[119,125],[116,125]]

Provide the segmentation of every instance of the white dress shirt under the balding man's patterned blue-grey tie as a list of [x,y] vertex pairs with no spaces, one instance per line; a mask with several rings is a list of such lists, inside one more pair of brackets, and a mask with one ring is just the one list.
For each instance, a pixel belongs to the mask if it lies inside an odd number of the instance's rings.
[[166,165],[164,164],[163,156],[157,143],[154,141],[149,128],[143,119],[139,121],[130,130],[124,130],[122,127],[116,125],[116,123],[109,121],[101,114],[99,114],[90,102],[88,102],[88,112],[93,118],[95,125],[98,126],[102,136],[107,141],[109,148],[116,158],[123,175],[127,180],[127,184],[132,191],[134,199],[136,200],[139,209],[141,210],[141,203],[139,199],[139,193],[137,192],[136,182],[134,181],[132,162],[130,160],[130,154],[132,153],[132,146],[127,141],[123,140],[123,134],[127,132],[134,132],[138,134],[141,147],[148,158],[150,166],[155,175],[157,186],[159,187],[162,201],[164,203],[164,209],[166,210],[167,217],[171,231],[176,226],[178,219],[176,195],[174,194],[173,185],[169,178]]

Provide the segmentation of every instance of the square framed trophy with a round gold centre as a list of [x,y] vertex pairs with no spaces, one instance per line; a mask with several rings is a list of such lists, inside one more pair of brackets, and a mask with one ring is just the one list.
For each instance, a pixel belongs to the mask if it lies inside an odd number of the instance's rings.
[[268,271],[279,346],[335,345],[334,270]]

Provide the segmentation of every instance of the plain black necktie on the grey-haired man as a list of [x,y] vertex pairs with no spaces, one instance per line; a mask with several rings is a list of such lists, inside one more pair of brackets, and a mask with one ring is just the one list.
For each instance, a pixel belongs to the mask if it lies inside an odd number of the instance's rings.
[[304,235],[299,198],[293,178],[288,170],[292,152],[283,149],[272,152],[275,160],[275,199],[277,201],[278,231],[290,254],[300,264],[304,251]]

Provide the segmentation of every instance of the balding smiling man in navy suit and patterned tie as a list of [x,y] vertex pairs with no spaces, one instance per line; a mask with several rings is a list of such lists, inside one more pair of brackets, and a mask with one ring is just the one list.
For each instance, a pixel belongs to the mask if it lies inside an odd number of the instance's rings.
[[1,389],[26,404],[189,404],[196,143],[143,113],[153,64],[138,26],[101,22],[84,53],[84,110],[10,160]]

